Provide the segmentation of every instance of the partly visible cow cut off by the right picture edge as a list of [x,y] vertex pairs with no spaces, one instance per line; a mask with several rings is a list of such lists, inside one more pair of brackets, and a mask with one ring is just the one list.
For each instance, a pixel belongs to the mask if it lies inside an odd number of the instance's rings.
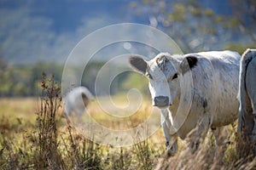
[[[239,74],[239,93],[240,101],[238,141],[241,148],[240,156],[248,156],[253,151],[256,156],[256,49],[247,49],[241,56]],[[241,144],[241,143],[244,143]],[[243,147],[242,147],[243,145]]]

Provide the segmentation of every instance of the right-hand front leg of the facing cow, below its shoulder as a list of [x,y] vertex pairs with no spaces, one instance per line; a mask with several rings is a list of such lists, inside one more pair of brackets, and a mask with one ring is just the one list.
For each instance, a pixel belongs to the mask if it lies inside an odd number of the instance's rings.
[[210,127],[210,120],[210,116],[205,113],[203,116],[201,116],[201,119],[199,120],[195,129],[189,133],[189,147],[193,153],[199,148],[201,142],[203,142],[203,140],[206,138]]

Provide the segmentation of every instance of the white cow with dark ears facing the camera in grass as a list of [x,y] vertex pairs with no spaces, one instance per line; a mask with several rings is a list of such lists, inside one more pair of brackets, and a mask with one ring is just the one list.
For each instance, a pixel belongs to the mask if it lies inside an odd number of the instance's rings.
[[231,51],[160,53],[148,61],[139,56],[129,58],[131,67],[148,77],[169,156],[177,152],[177,138],[185,139],[192,132],[195,139],[189,148],[194,151],[210,128],[216,146],[224,143],[220,132],[238,117],[240,59],[240,54]]

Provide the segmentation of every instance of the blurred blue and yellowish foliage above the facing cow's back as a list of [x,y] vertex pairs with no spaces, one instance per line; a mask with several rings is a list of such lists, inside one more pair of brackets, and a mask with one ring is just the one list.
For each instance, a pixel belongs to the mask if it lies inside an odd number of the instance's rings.
[[[147,13],[150,26],[165,31],[183,53],[230,49],[240,54],[255,47],[256,2],[214,1],[224,8],[208,8],[204,0],[143,0],[133,4],[137,14]],[[142,9],[143,8],[143,9]],[[218,13],[217,13],[218,12]]]

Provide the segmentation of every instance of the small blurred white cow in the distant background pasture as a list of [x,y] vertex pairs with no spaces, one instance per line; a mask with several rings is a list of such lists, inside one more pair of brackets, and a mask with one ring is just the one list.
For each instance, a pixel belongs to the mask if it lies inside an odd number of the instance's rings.
[[68,116],[82,116],[93,95],[84,87],[73,88],[64,98],[64,109]]

